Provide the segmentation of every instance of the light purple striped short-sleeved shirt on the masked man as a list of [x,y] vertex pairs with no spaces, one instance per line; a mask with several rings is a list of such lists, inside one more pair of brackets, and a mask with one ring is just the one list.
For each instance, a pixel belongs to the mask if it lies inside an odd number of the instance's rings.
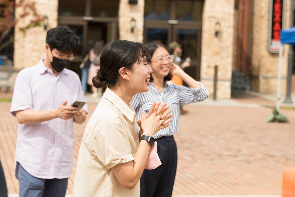
[[[65,100],[85,101],[79,76],[68,69],[55,76],[41,59],[39,64],[23,69],[15,81],[10,112],[52,110]],[[87,104],[83,109],[88,113]],[[73,170],[74,119],[55,118],[39,124],[18,124],[15,165],[37,178],[68,178]],[[18,166],[16,165],[16,176]]]

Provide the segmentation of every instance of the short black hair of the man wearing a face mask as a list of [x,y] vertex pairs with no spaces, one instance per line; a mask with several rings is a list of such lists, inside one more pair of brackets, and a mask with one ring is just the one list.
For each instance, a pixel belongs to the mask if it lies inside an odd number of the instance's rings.
[[80,40],[74,31],[66,25],[48,30],[46,43],[50,50],[55,48],[62,53],[75,53]]

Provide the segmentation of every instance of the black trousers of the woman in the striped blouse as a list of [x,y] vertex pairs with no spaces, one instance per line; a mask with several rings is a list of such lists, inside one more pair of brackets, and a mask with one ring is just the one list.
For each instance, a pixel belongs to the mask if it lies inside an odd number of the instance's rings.
[[144,170],[140,178],[140,197],[172,196],[177,167],[177,147],[173,136],[156,139],[162,165]]

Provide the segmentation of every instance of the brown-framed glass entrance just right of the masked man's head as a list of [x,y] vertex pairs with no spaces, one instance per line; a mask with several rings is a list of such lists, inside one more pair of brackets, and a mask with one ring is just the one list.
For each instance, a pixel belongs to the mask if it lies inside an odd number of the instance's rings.
[[59,0],[58,25],[76,29],[80,45],[76,58],[67,67],[81,76],[79,65],[95,41],[105,43],[118,39],[119,0]]

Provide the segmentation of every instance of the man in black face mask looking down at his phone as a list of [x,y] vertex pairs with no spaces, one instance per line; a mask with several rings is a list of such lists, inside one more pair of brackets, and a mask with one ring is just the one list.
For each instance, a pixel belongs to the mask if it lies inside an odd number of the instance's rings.
[[10,112],[17,117],[15,176],[20,197],[64,197],[73,169],[73,123],[86,120],[79,76],[65,67],[79,38],[67,26],[48,30],[45,58],[17,75]]

